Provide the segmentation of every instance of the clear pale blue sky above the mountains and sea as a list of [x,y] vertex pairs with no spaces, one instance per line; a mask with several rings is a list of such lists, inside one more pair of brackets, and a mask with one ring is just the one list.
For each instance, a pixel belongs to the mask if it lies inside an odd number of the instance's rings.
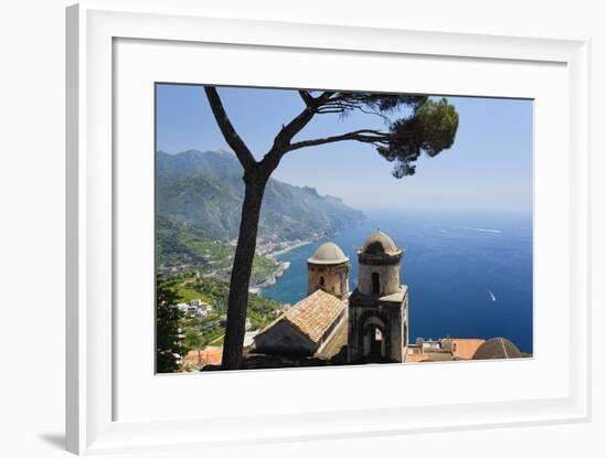
[[[236,130],[262,158],[283,124],[302,108],[289,89],[220,88]],[[397,180],[372,146],[339,142],[289,152],[274,178],[313,187],[361,210],[530,212],[533,193],[533,102],[447,97],[459,113],[454,146],[422,158],[413,177]],[[321,115],[296,139],[383,127],[375,116]],[[230,148],[202,86],[157,86],[157,148],[177,153]]]

